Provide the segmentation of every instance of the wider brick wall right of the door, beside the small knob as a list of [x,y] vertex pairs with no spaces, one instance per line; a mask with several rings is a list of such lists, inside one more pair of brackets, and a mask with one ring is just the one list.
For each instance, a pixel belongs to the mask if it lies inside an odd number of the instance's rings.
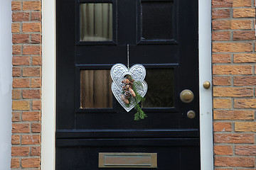
[[215,169],[255,169],[255,0],[212,0]]

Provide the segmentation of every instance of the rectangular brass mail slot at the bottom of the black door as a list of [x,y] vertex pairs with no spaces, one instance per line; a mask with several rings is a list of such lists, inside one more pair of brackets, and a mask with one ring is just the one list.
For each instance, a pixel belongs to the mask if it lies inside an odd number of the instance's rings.
[[99,153],[100,168],[157,168],[156,153]]

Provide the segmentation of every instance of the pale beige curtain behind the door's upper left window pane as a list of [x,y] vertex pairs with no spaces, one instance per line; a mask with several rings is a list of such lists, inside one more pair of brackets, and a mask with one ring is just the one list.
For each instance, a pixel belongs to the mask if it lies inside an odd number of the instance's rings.
[[112,4],[80,4],[82,41],[112,40]]

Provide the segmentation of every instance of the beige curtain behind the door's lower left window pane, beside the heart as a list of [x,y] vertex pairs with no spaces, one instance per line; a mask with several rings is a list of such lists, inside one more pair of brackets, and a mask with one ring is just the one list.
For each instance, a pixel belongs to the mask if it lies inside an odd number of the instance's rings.
[[112,108],[110,70],[82,70],[81,103],[82,108]]

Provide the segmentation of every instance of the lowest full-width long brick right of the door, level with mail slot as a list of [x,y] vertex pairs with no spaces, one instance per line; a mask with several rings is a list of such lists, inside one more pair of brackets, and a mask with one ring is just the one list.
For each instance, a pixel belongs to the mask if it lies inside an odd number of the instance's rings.
[[253,157],[215,157],[215,166],[254,167]]

